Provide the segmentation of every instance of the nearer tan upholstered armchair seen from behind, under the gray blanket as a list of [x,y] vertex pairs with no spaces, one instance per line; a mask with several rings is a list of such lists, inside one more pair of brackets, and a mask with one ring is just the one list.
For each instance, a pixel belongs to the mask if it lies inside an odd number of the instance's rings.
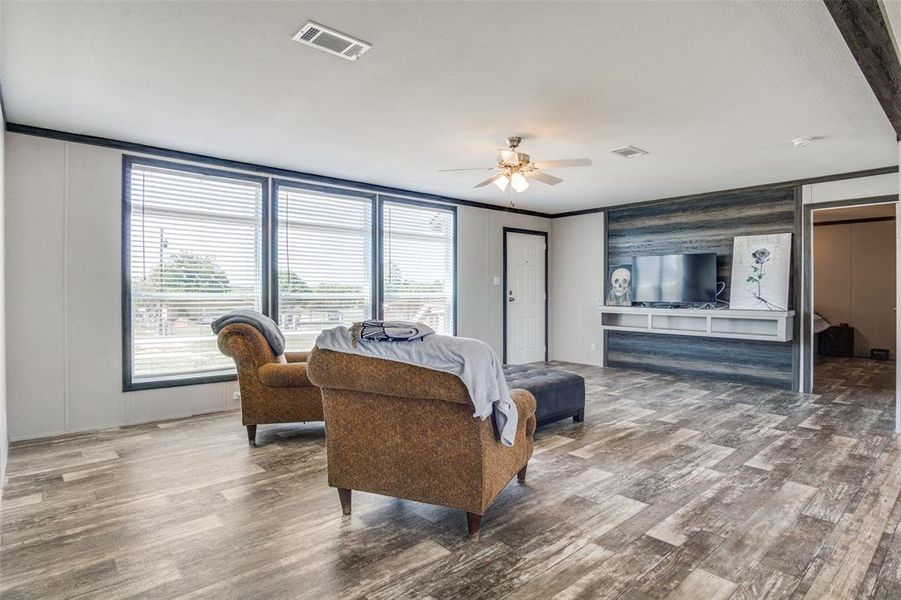
[[482,515],[532,456],[535,398],[513,390],[519,428],[513,447],[493,419],[472,416],[466,387],[450,373],[313,348],[310,380],[322,390],[328,482],[344,514],[351,490],[466,511],[478,538]]

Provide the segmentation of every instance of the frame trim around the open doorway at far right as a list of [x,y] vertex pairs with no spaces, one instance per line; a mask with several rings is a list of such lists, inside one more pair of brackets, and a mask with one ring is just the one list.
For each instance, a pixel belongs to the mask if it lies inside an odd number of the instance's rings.
[[[803,249],[803,280],[804,292],[801,297],[801,346],[803,360],[801,361],[801,372],[799,373],[800,385],[799,389],[802,393],[813,392],[813,212],[815,210],[849,208],[854,206],[867,206],[877,204],[894,204],[895,205],[895,253],[901,252],[901,244],[898,242],[899,221],[898,214],[901,212],[898,195],[889,194],[886,196],[870,196],[866,198],[855,198],[848,200],[834,200],[831,202],[811,202],[804,205],[803,215],[803,232],[804,232],[804,249]],[[895,286],[896,290],[901,290],[901,276],[899,276],[899,267],[901,263],[896,265],[895,269]],[[896,292],[895,302],[899,301],[898,292]],[[895,346],[901,335],[901,315],[895,311]],[[895,432],[901,432],[901,355],[895,352]]]

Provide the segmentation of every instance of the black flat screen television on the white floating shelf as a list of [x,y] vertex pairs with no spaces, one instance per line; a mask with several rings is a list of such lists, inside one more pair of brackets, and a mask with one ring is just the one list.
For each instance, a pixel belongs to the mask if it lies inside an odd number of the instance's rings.
[[632,259],[632,300],[716,302],[716,253],[636,256]]

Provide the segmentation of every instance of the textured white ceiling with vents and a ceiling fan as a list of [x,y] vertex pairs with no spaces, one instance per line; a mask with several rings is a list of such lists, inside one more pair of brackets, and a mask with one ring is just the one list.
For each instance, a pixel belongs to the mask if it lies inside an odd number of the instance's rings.
[[[374,47],[292,42],[308,19]],[[550,213],[897,162],[819,0],[3,2],[2,46],[11,122],[496,204],[436,171],[519,133],[594,161],[516,198]]]

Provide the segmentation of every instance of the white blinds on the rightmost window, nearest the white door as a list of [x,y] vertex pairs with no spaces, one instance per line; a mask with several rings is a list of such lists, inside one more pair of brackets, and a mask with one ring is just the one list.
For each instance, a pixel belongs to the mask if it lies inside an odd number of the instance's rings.
[[453,209],[385,200],[382,273],[386,320],[454,334]]

